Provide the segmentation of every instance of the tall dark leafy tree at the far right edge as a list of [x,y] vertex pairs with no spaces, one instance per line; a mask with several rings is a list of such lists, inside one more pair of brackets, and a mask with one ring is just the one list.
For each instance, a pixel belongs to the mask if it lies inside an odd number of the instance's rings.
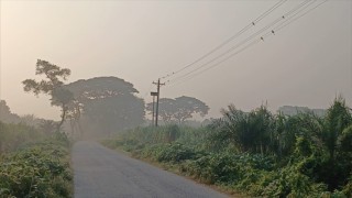
[[[352,158],[346,153],[352,151],[352,142],[349,139],[352,116],[342,97],[334,99],[328,109],[323,120],[323,128],[319,134],[321,141],[329,152],[329,158],[324,164],[324,182],[329,189],[336,189],[346,182],[348,175],[352,173]],[[349,145],[350,150],[348,150]]]

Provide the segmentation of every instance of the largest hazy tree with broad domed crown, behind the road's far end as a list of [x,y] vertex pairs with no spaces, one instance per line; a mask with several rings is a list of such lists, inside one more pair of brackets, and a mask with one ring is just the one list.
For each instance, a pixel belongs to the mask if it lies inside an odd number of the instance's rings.
[[138,98],[139,91],[132,84],[117,77],[97,77],[78,80],[65,86],[74,94],[75,100],[69,103],[68,116],[73,125],[80,120],[95,129],[94,133],[106,133],[139,125],[144,119],[144,101]]

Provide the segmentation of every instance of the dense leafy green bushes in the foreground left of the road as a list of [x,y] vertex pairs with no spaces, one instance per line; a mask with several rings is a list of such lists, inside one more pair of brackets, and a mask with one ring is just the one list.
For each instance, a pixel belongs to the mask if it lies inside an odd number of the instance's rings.
[[68,151],[57,143],[34,144],[7,154],[0,165],[0,195],[69,197]]

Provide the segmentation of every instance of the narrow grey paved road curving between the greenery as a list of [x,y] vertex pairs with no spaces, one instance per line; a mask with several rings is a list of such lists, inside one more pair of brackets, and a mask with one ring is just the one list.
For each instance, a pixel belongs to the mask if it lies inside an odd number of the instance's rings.
[[76,198],[227,197],[95,142],[74,145],[73,166]]

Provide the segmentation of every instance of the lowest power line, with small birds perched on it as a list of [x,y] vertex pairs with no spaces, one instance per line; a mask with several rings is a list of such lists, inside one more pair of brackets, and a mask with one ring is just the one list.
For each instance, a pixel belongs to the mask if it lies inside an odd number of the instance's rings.
[[[294,21],[296,21],[296,20],[302,18],[304,15],[308,14],[308,13],[311,12],[312,10],[315,10],[315,9],[317,9],[318,7],[320,7],[321,4],[326,3],[328,0],[324,0],[324,1],[320,2],[319,4],[317,4],[317,6],[308,9],[306,12],[304,12],[304,13],[300,14],[300,15],[298,15],[297,18],[294,18],[294,16],[296,16],[298,13],[302,12],[304,10],[306,10],[309,6],[311,6],[311,4],[312,4],[314,2],[316,2],[316,1],[317,1],[317,0],[310,1],[310,3],[307,4],[304,9],[301,9],[300,11],[298,11],[298,12],[296,12],[295,14],[293,14],[292,16],[289,16],[289,18],[288,18],[288,21],[284,21],[283,23],[278,24],[275,29],[273,29],[271,32],[267,32],[266,34],[264,34],[264,35],[261,36],[260,38],[251,42],[250,44],[248,44],[248,45],[245,45],[244,47],[240,48],[240,50],[237,51],[235,53],[230,54],[229,56],[227,56],[227,57],[223,58],[222,61],[220,61],[220,62],[218,62],[218,63],[216,63],[216,64],[207,67],[206,69],[202,69],[202,70],[200,70],[200,72],[198,72],[198,73],[189,76],[191,73],[194,73],[194,72],[196,72],[196,70],[199,70],[200,68],[202,68],[204,66],[208,65],[209,63],[212,63],[213,61],[218,59],[218,58],[213,58],[213,59],[211,59],[210,62],[201,65],[201,66],[198,67],[197,69],[194,69],[194,70],[187,73],[186,75],[182,76],[182,77],[186,77],[186,78],[184,78],[184,81],[180,81],[180,84],[182,84],[182,82],[185,82],[185,81],[187,81],[187,80],[189,80],[189,79],[191,79],[191,78],[194,78],[195,76],[198,76],[198,75],[200,75],[200,74],[209,70],[210,68],[213,68],[213,67],[220,65],[221,63],[230,59],[230,58],[233,57],[234,55],[238,55],[239,53],[245,51],[246,48],[249,48],[250,46],[258,43],[260,41],[264,41],[264,38],[273,35],[275,32],[280,31],[282,29],[284,29],[284,28],[287,26],[288,24],[290,24],[290,23],[293,23]],[[304,4],[301,4],[301,7],[302,7],[302,6],[304,6]],[[297,10],[296,10],[296,11],[297,11]],[[293,12],[290,12],[290,14],[292,14],[292,13],[293,13]],[[250,37],[251,37],[251,36],[250,36]],[[252,38],[251,38],[251,40],[252,40]],[[246,43],[246,42],[245,42],[245,43]],[[224,53],[224,54],[228,54],[228,52]],[[222,54],[222,55],[220,55],[220,56],[222,57],[224,54]],[[219,58],[220,58],[220,57],[219,57]],[[179,84],[170,84],[170,85],[179,85]]]

